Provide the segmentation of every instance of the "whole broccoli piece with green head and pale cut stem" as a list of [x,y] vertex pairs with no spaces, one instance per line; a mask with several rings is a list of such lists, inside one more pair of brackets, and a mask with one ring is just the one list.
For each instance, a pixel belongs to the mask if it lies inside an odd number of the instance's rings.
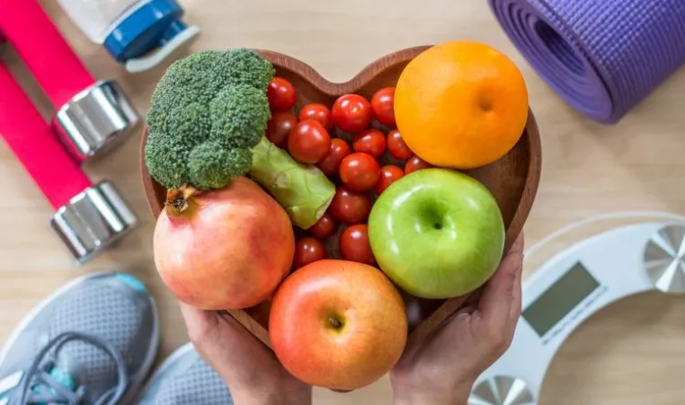
[[[249,175],[307,229],[324,215],[335,186],[266,138],[271,63],[245,48],[210,50],[174,62],[147,112],[145,162],[166,189],[222,189]],[[167,206],[168,207],[168,206]]]

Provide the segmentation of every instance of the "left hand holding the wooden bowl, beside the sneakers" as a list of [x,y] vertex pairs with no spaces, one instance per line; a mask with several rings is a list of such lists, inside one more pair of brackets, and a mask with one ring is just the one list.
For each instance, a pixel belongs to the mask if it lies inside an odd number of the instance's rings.
[[180,305],[195,349],[227,383],[236,405],[312,403],[312,387],[289,374],[232,316]]

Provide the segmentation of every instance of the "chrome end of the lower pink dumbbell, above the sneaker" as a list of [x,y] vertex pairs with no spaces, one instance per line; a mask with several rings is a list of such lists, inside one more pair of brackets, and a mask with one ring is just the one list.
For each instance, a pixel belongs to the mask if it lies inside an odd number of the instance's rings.
[[138,219],[110,181],[83,190],[50,220],[78,264],[84,264],[134,228]]

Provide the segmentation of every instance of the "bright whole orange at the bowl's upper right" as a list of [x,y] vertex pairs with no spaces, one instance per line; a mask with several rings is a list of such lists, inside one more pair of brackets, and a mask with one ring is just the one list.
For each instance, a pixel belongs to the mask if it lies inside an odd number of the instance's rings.
[[395,114],[414,154],[436,166],[471,169],[516,145],[528,119],[528,91],[502,52],[479,42],[445,42],[405,67]]

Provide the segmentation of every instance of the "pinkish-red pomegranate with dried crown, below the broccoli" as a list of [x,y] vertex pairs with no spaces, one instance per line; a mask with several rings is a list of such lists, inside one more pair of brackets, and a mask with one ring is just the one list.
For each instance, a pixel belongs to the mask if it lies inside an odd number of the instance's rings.
[[182,302],[203,310],[250,307],[288,275],[295,236],[285,210],[254,181],[170,190],[157,218],[155,264]]

